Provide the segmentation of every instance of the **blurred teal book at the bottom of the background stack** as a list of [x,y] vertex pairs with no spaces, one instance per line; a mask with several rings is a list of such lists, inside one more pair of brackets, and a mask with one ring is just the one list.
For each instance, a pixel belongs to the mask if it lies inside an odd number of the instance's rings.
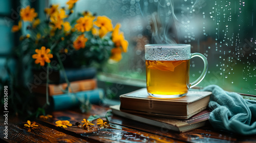
[[104,96],[103,89],[94,89],[89,91],[81,91],[76,93],[67,93],[52,96],[52,110],[65,110],[77,107],[80,102],[85,103],[87,100],[91,104],[99,104]]

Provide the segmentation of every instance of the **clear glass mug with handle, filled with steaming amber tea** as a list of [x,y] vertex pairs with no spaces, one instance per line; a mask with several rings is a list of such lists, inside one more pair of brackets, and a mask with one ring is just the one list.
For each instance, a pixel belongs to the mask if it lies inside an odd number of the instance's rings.
[[[189,83],[190,59],[193,57],[203,59],[204,69],[196,81]],[[203,80],[208,66],[202,54],[190,54],[188,44],[147,44],[145,60],[147,92],[156,98],[185,96],[190,87]]]

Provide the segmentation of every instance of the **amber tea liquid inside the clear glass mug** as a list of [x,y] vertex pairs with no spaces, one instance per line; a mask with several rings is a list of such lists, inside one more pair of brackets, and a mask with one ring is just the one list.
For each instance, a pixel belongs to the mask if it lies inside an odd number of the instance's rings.
[[189,88],[189,61],[146,60],[146,87],[152,94],[185,94]]

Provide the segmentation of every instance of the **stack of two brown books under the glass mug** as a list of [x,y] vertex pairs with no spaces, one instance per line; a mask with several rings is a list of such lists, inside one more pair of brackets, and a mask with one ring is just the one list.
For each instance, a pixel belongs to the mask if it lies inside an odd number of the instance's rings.
[[175,99],[148,96],[146,88],[120,96],[120,105],[111,106],[116,115],[138,122],[185,132],[205,125],[210,111],[207,109],[211,92],[188,91]]

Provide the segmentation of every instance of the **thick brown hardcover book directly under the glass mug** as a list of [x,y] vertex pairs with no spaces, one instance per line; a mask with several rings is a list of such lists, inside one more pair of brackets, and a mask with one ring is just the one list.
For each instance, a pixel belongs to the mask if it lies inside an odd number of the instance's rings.
[[120,96],[120,110],[124,112],[187,119],[208,107],[211,92],[188,91],[175,99],[148,96],[142,88]]

